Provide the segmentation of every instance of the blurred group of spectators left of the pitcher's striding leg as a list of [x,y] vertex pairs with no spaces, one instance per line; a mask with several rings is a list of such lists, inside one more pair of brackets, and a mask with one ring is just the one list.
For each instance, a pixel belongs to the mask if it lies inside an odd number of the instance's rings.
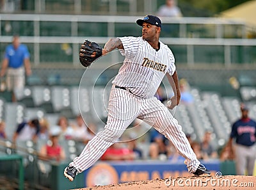
[[[17,125],[12,136],[12,142],[17,147],[22,141],[43,142],[44,144],[38,153],[42,159],[63,161],[67,153],[65,153],[61,142],[72,139],[85,145],[97,132],[97,126],[94,123],[86,124],[81,115],[72,121],[71,123],[68,122],[68,118],[65,116],[60,116],[56,125],[49,125],[46,118],[24,120]],[[0,139],[8,139],[3,121],[0,122]]]

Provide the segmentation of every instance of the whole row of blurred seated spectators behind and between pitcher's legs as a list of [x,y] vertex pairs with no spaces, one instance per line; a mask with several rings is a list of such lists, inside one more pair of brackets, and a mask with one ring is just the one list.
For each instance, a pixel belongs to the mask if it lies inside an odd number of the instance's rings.
[[[1,122],[0,139],[7,139],[5,129],[4,122]],[[81,115],[77,116],[75,122],[72,123],[68,122],[68,118],[65,116],[60,116],[56,125],[52,126],[49,125],[46,118],[40,120],[35,118],[19,123],[12,141],[17,143],[18,146],[20,141],[44,142],[44,145],[40,148],[40,157],[44,160],[63,161],[67,153],[63,150],[61,142],[74,140],[86,145],[97,132],[97,125],[84,122]],[[211,145],[211,136],[212,132],[210,131],[205,132],[201,140],[193,140],[190,134],[186,135],[198,159],[208,160],[219,157],[217,150],[214,150]],[[227,154],[226,149],[224,148],[221,152],[220,159],[233,159]],[[115,161],[137,159],[184,161],[184,158],[177,153],[172,143],[163,134],[139,119],[136,119],[120,139],[108,148],[101,159]]]

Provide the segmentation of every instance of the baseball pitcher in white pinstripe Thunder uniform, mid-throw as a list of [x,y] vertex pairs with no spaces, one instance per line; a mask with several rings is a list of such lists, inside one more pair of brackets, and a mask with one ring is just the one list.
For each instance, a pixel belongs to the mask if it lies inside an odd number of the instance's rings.
[[[125,59],[113,81],[104,131],[89,141],[83,152],[65,168],[64,175],[70,181],[92,166],[136,118],[152,125],[172,141],[177,152],[186,159],[189,173],[210,174],[196,159],[182,127],[168,110],[179,104],[180,90],[173,53],[159,41],[161,20],[147,15],[136,23],[142,26],[140,37],[111,38],[103,49],[95,42],[86,41],[81,45],[79,56],[85,67],[116,48]],[[168,108],[154,97],[165,75],[175,92]]]

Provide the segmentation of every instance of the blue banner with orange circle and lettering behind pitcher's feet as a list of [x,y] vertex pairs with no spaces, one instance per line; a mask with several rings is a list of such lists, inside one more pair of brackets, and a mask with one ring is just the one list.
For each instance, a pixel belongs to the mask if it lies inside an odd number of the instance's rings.
[[[220,171],[220,161],[202,162],[212,173]],[[84,171],[86,187],[103,186],[156,178],[188,177],[184,162],[168,161],[122,161],[97,162]]]

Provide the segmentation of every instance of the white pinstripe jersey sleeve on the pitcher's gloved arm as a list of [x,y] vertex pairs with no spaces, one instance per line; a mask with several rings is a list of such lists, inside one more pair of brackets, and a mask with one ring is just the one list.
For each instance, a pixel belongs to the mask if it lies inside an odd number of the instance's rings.
[[123,44],[124,49],[119,49],[122,56],[132,59],[137,54],[140,44],[140,38],[136,37],[122,37],[119,38]]

